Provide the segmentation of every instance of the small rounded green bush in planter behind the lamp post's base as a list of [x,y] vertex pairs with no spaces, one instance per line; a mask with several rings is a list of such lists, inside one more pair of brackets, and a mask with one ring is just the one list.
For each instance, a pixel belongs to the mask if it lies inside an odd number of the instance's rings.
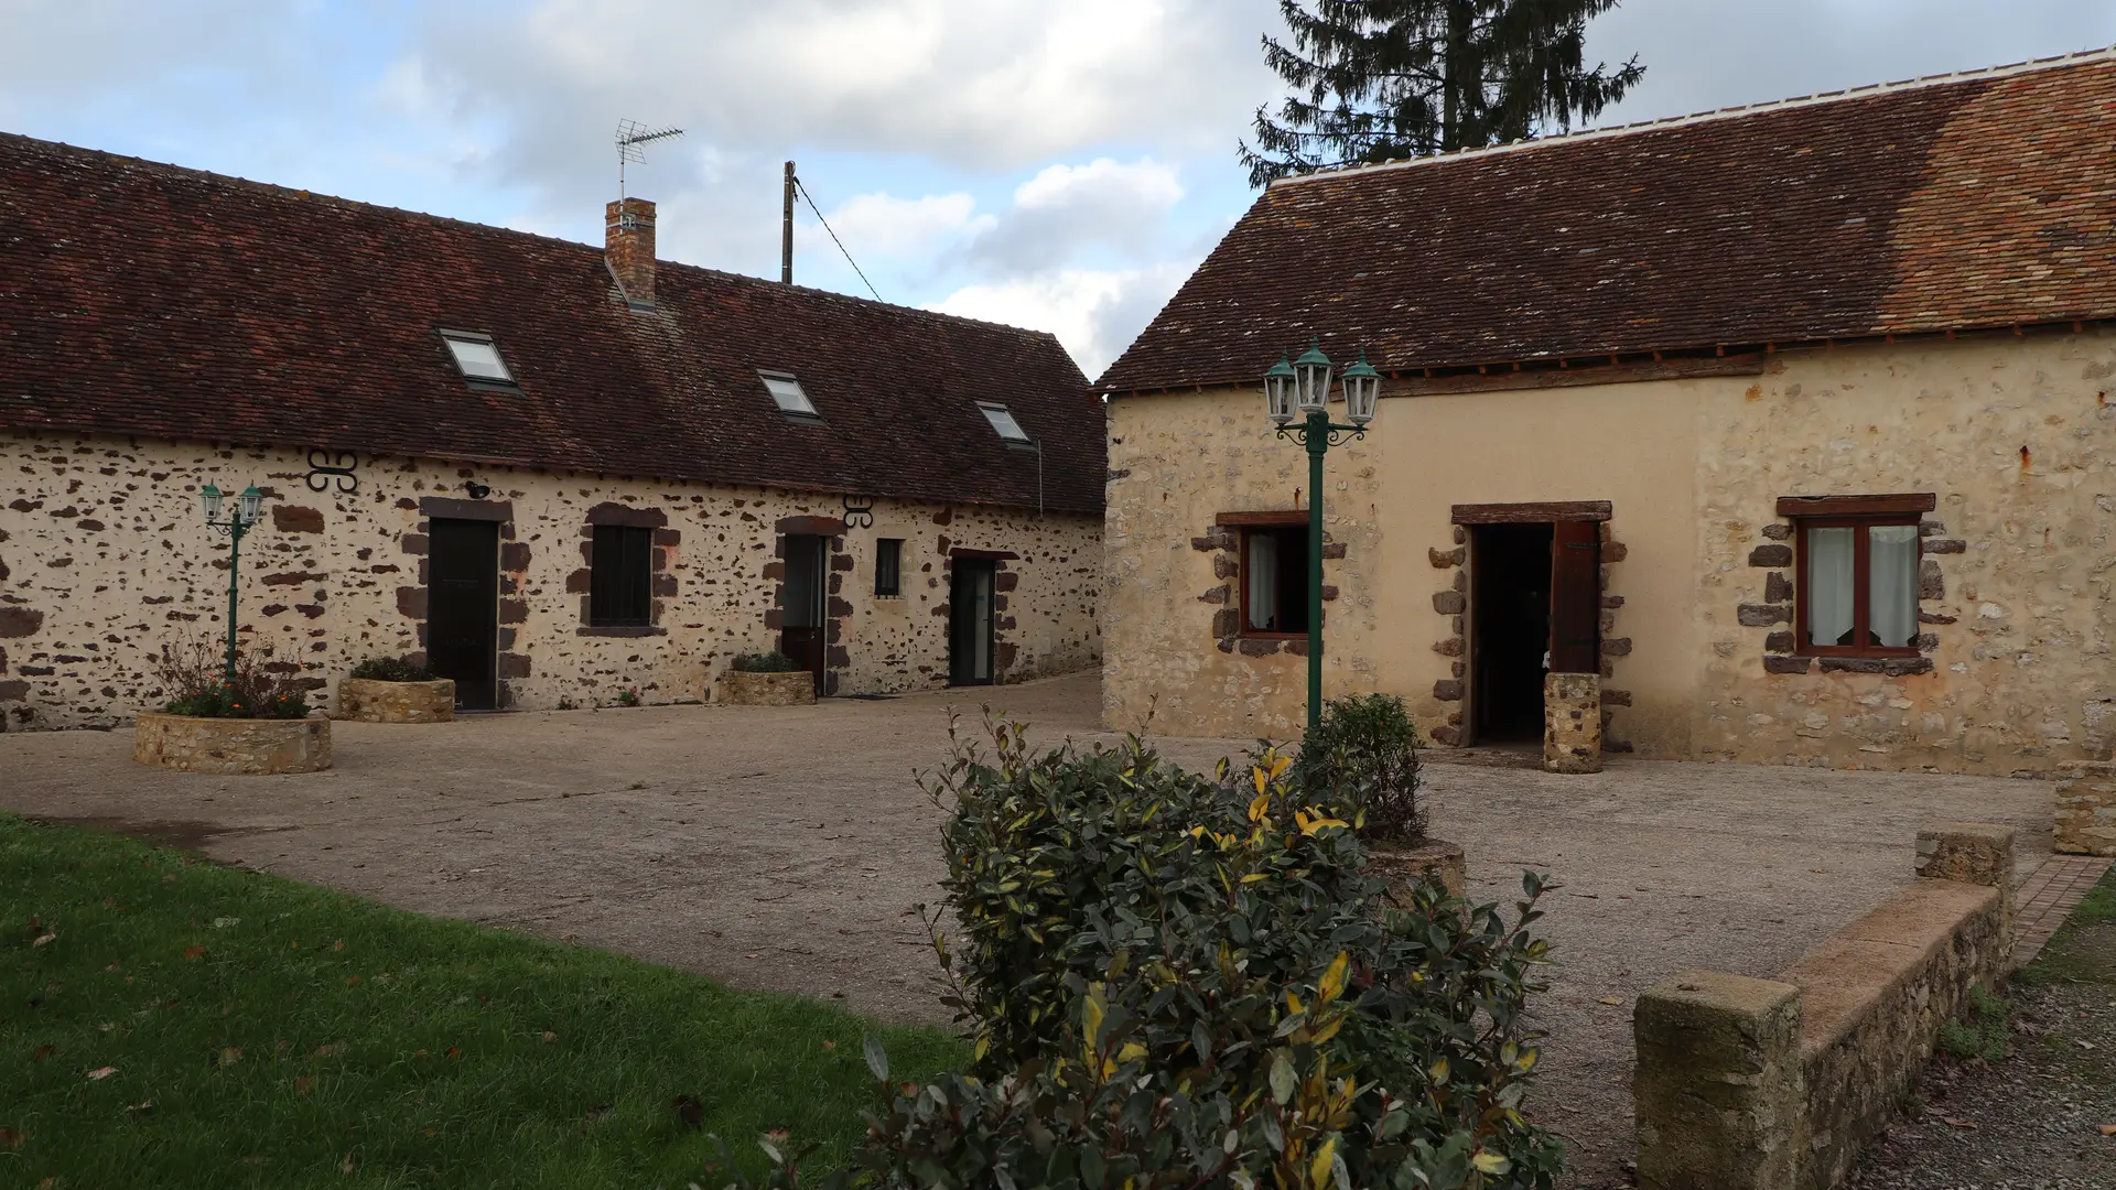
[[1418,726],[1394,695],[1352,695],[1322,707],[1322,722],[1301,741],[1295,783],[1363,813],[1358,834],[1373,843],[1420,843],[1426,811],[1418,803]]

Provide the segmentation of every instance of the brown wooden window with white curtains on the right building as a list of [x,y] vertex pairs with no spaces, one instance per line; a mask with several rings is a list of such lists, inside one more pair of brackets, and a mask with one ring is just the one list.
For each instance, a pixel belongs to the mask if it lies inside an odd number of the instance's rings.
[[1930,493],[1796,495],[1794,639],[1809,656],[1917,656],[1919,525]]

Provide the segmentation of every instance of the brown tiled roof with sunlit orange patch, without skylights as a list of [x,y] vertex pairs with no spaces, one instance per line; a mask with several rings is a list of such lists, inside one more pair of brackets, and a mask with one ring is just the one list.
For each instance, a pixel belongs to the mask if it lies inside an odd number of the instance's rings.
[[1100,390],[2116,315],[2116,55],[1270,186]]

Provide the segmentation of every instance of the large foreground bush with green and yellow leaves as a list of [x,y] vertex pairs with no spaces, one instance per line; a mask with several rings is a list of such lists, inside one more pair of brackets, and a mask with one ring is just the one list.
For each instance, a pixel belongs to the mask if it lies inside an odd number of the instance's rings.
[[[1547,1188],[1521,1101],[1547,944],[1437,885],[1390,904],[1346,788],[1272,750],[1215,779],[1141,741],[956,741],[927,792],[975,1063],[895,1086],[863,1186]],[[935,915],[935,923],[944,921]]]

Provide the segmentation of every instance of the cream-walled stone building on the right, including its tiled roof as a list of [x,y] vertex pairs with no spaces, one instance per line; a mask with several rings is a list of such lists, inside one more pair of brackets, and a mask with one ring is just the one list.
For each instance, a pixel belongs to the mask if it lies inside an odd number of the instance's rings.
[[1096,385],[1107,722],[1297,731],[1259,379],[1318,337],[1384,373],[1327,459],[1329,697],[1496,743],[1555,665],[1642,756],[2105,758],[2112,318],[2110,53],[1278,182]]

